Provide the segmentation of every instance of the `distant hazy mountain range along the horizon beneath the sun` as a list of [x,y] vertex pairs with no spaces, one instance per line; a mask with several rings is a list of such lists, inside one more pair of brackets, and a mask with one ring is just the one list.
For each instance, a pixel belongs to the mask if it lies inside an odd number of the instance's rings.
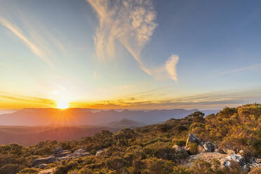
[[[131,119],[140,123],[161,123],[170,118],[181,119],[198,109],[169,110],[102,110],[92,112],[91,109],[69,108],[61,109],[20,109],[11,114],[0,115],[0,125],[5,126],[48,126],[48,125],[105,125],[113,121]],[[208,111],[209,112],[209,111]],[[213,113],[216,112],[213,110]],[[209,114],[209,113],[208,113]]]

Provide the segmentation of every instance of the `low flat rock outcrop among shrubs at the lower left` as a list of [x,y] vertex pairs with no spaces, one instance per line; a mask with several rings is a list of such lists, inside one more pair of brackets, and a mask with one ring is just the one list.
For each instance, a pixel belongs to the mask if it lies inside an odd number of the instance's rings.
[[51,156],[48,156],[46,158],[34,159],[34,161],[32,162],[32,166],[44,168],[44,165],[48,163],[54,163],[55,161],[62,161],[66,159],[76,159],[80,156],[90,156],[90,153],[86,152],[85,149],[77,149],[74,152],[69,152],[67,150],[62,150],[62,148],[59,147],[54,150],[54,154]]

